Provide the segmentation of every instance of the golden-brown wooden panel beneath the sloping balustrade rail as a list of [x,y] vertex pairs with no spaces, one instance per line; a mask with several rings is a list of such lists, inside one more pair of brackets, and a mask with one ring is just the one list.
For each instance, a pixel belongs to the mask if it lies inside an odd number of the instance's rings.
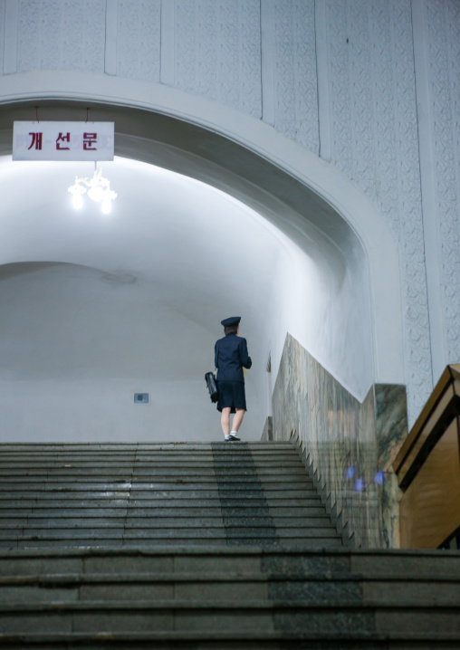
[[460,526],[459,425],[455,418],[404,493],[402,548],[436,549]]

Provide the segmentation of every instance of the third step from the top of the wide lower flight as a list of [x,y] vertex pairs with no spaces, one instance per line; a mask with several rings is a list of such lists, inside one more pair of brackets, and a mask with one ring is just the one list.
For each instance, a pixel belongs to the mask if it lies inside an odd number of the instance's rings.
[[[297,600],[143,600],[0,604],[4,634],[54,632],[149,632],[196,630],[207,632],[274,631],[328,633],[375,631],[392,634],[409,630],[432,634],[447,629],[460,634],[460,607],[417,602],[395,604],[340,601],[306,603]],[[377,627],[377,630],[376,630]]]

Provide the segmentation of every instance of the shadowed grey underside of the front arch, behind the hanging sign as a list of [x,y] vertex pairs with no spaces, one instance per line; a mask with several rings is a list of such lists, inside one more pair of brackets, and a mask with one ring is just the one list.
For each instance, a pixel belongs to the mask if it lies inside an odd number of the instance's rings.
[[[0,106],[0,154],[11,153],[14,120],[35,119],[37,102]],[[42,100],[39,119],[86,119],[88,102]],[[91,102],[90,119],[115,122],[115,152],[149,162],[222,189],[273,221],[311,255],[309,241],[333,244],[351,262],[362,261],[356,234],[320,196],[272,162],[215,131],[149,110],[129,109],[116,102]],[[351,254],[350,254],[351,253]]]

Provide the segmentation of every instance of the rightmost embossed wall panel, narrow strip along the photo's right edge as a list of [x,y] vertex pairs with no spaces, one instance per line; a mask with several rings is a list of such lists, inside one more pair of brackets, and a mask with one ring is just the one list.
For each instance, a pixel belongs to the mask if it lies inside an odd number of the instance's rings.
[[425,2],[440,291],[446,363],[460,360],[460,4]]

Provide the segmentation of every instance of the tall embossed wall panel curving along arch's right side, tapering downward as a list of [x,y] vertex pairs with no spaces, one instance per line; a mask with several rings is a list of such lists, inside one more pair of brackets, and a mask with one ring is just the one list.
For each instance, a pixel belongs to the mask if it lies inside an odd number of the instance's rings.
[[398,240],[414,422],[433,380],[411,3],[326,0],[326,9],[332,163],[369,196]]

